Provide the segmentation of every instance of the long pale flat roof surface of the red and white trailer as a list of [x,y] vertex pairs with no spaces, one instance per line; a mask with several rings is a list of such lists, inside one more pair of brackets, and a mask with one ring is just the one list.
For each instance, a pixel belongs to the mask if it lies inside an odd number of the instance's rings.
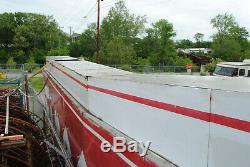
[[250,92],[250,78],[247,77],[136,74],[88,61],[57,61],[57,63],[82,76],[97,79]]

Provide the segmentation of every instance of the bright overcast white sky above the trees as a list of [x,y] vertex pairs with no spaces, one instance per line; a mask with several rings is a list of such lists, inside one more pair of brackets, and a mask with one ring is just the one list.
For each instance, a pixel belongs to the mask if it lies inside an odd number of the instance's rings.
[[[65,32],[69,32],[69,26],[72,26],[73,31],[79,33],[96,20],[96,1],[0,0],[0,13],[22,11],[53,15]],[[102,17],[116,1],[102,2]],[[127,0],[127,6],[132,13],[146,15],[148,25],[159,19],[168,19],[174,24],[176,39],[192,40],[196,32],[210,39],[213,34],[211,18],[225,12],[233,14],[250,32],[250,0]]]

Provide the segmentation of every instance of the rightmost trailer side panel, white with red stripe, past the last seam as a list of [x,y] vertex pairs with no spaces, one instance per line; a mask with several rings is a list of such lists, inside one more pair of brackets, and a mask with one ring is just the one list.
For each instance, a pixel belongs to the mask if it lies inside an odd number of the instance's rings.
[[212,91],[212,114],[224,116],[214,121],[227,126],[211,122],[209,167],[250,166],[249,99],[250,93]]

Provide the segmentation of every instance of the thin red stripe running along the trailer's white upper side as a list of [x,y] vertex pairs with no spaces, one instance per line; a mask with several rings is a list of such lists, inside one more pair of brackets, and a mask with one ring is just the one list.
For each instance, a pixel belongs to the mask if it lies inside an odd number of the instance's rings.
[[92,90],[102,92],[105,94],[109,94],[109,95],[119,97],[122,99],[126,99],[129,101],[135,102],[135,103],[140,103],[140,104],[147,105],[150,107],[163,109],[163,110],[166,110],[168,112],[176,113],[179,115],[184,115],[187,117],[191,117],[191,118],[206,121],[206,122],[212,122],[215,124],[219,124],[222,126],[226,126],[226,127],[230,127],[233,129],[237,129],[237,130],[241,130],[241,131],[250,133],[250,122],[249,121],[230,118],[230,117],[226,117],[223,115],[218,115],[218,114],[213,114],[213,113],[208,113],[208,112],[202,112],[202,111],[198,111],[198,110],[194,110],[194,109],[190,109],[190,108],[185,108],[185,107],[167,104],[167,103],[163,103],[163,102],[159,102],[159,101],[155,101],[155,100],[150,100],[150,99],[146,99],[146,98],[142,98],[142,97],[138,97],[138,96],[133,96],[133,95],[129,95],[129,94],[113,91],[113,90],[99,88],[99,87],[95,87],[95,86],[91,86],[91,85],[86,85],[86,84],[81,83],[81,81],[75,79],[71,75],[67,74],[62,69],[60,69],[58,67],[56,67],[56,68],[59,71],[61,71],[62,73],[64,73],[65,75],[67,75],[68,77],[72,78],[77,83],[84,85],[85,88],[92,89]]

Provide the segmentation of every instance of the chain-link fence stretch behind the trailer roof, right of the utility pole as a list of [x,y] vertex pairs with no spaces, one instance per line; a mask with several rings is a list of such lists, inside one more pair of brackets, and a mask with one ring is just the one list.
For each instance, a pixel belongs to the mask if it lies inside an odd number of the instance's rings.
[[[186,66],[151,66],[151,65],[108,65],[113,68],[122,69],[136,73],[187,73]],[[192,73],[200,73],[199,66],[192,67]]]

